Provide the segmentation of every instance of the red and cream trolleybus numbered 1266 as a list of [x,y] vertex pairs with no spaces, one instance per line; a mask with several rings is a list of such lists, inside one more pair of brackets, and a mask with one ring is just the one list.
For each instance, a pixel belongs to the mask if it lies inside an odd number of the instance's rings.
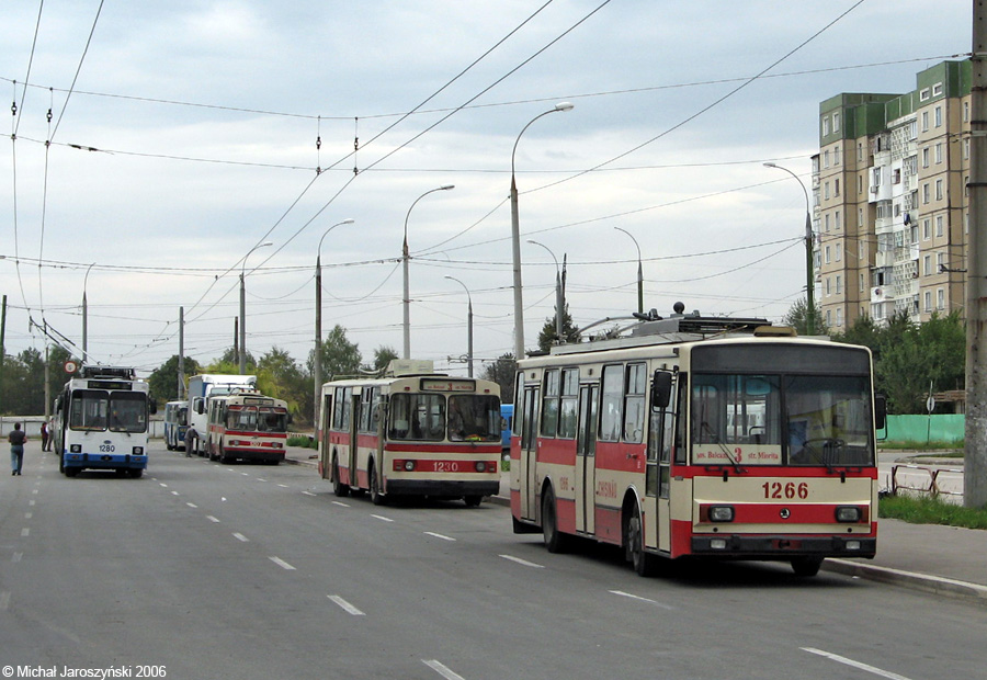
[[518,362],[515,533],[553,552],[572,536],[620,545],[643,576],[660,557],[803,576],[873,557],[884,406],[870,351],[683,308]]

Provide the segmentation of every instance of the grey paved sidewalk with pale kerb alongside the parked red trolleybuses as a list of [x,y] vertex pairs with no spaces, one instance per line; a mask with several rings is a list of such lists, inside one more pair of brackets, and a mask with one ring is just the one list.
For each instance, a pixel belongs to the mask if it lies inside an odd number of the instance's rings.
[[[315,457],[309,457],[315,456]],[[288,446],[286,463],[318,469],[310,449]],[[509,473],[501,475],[500,495],[489,499],[510,505]],[[874,559],[827,559],[824,571],[836,571],[987,607],[987,531],[939,524],[880,520]]]

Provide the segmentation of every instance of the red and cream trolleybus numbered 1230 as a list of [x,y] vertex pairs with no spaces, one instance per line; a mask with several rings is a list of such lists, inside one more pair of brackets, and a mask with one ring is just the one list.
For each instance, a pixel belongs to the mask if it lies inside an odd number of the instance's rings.
[[337,496],[368,491],[463,498],[478,506],[500,488],[500,388],[392,362],[382,378],[322,385],[319,472]]

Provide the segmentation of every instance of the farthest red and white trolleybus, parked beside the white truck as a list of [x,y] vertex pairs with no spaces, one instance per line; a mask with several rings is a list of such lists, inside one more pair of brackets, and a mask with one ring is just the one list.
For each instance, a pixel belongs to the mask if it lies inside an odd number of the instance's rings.
[[277,465],[287,442],[287,403],[241,389],[208,399],[205,452],[211,461]]

